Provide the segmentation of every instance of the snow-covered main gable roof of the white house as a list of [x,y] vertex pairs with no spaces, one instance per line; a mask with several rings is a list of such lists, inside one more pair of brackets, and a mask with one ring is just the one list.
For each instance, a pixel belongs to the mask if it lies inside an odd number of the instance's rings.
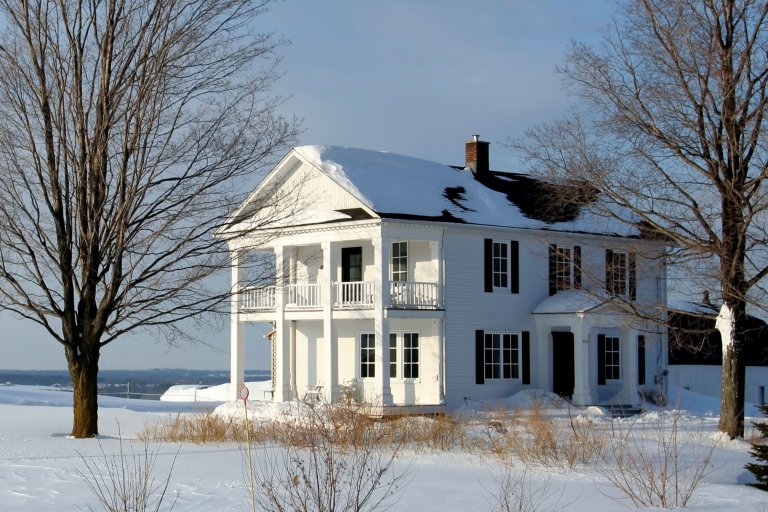
[[[523,174],[489,171],[478,178],[470,169],[385,151],[343,146],[293,148],[225,224],[250,217],[250,204],[271,181],[296,169],[297,161],[330,178],[359,202],[370,218],[423,220],[486,226],[548,229],[612,236],[639,236],[632,225],[596,215],[579,206],[570,189],[555,196],[542,182]],[[558,191],[559,192],[559,191]],[[581,200],[581,203],[584,201]],[[299,215],[294,225],[362,218],[352,210]],[[331,217],[329,217],[331,215]],[[309,217],[314,217],[310,219]],[[222,226],[222,229],[225,229]],[[221,233],[221,229],[218,233]]]

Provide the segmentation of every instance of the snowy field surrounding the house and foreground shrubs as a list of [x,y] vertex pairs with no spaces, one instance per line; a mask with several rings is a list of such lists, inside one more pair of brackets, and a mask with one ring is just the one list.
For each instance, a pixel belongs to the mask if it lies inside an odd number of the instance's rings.
[[[493,411],[524,410],[526,403],[520,397],[512,397],[506,403],[493,404]],[[743,485],[751,481],[751,475],[743,469],[750,461],[749,443],[722,440],[716,434],[717,401],[682,392],[679,404],[678,442],[689,451],[681,454],[678,471],[697,467],[701,457],[714,446],[711,463],[703,468],[705,475],[686,508],[739,512],[768,510],[768,493]],[[103,468],[101,450],[108,456],[118,453],[119,437],[123,438],[124,450],[143,451],[144,446],[137,437],[145,431],[147,424],[163,422],[177,413],[186,414],[194,410],[195,405],[101,397],[99,424],[102,435],[98,440],[67,437],[71,427],[70,407],[71,395],[66,392],[34,386],[0,386],[0,510],[77,511],[87,510],[89,504],[94,510],[101,510],[78,474],[78,470],[87,471],[85,461],[92,467]],[[463,418],[482,418],[491,414],[489,407],[489,404],[469,404],[461,415]],[[560,421],[568,412],[562,408],[553,411],[539,407],[539,410]],[[571,411],[568,416],[575,412]],[[754,414],[754,408],[749,412]],[[270,405],[253,404],[252,414],[256,419],[274,418],[282,412]],[[660,414],[661,411],[653,409],[634,422],[612,423],[595,408],[589,418],[601,432],[615,435],[616,432],[626,432],[629,426],[644,432],[641,436],[643,446],[653,452],[658,445],[654,433],[659,432]],[[662,433],[662,438],[669,439],[669,424],[664,424],[663,428],[667,430]],[[481,439],[483,432],[488,432],[488,423],[475,421],[473,426],[467,427],[467,432],[470,440]],[[416,449],[404,446],[391,471],[397,473],[409,468],[407,485],[397,494],[391,510],[492,510],[505,467],[518,475],[525,472],[522,480],[525,493],[537,496],[540,502],[535,510],[600,512],[625,510],[627,506],[634,508],[626,495],[610,484],[612,473],[606,471],[610,467],[607,459],[574,464],[573,467],[554,467],[526,465],[511,457],[509,465],[505,466],[499,457],[483,449],[482,445],[478,446],[481,447]],[[150,443],[150,449],[159,449],[154,474],[160,480],[168,475],[178,451],[169,484],[169,493],[173,497],[178,494],[174,510],[251,510],[249,487],[243,476],[243,452],[238,444],[188,442],[179,445],[166,442]],[[274,457],[276,450],[280,448],[269,444],[255,445],[253,456],[258,462],[264,457]],[[526,466],[529,466],[527,470]],[[161,508],[167,509],[167,506]]]

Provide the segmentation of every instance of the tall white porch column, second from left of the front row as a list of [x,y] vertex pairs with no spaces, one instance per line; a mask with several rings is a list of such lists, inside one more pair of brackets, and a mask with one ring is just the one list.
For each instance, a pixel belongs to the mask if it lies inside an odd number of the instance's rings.
[[291,399],[291,330],[290,322],[285,319],[286,286],[290,269],[291,248],[275,247],[275,401],[286,402]]

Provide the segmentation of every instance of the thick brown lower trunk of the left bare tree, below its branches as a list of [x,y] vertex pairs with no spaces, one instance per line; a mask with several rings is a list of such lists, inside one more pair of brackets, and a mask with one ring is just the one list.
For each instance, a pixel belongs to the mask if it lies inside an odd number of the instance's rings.
[[99,404],[96,391],[99,374],[99,347],[66,348],[72,377],[74,424],[72,437],[94,437],[99,433]]

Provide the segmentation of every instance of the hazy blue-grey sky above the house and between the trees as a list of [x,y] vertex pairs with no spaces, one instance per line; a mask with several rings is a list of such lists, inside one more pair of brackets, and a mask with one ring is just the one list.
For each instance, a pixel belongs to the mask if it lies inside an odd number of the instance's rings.
[[[464,142],[491,142],[490,165],[521,171],[501,146],[574,105],[556,67],[572,40],[597,43],[609,0],[285,0],[254,27],[290,40],[274,94],[302,119],[300,144],[389,151],[464,164]],[[246,327],[246,370],[269,368],[267,325]],[[229,329],[170,348],[146,335],[104,348],[101,368],[229,368]],[[0,315],[0,369],[65,370],[64,349],[29,321]]]

